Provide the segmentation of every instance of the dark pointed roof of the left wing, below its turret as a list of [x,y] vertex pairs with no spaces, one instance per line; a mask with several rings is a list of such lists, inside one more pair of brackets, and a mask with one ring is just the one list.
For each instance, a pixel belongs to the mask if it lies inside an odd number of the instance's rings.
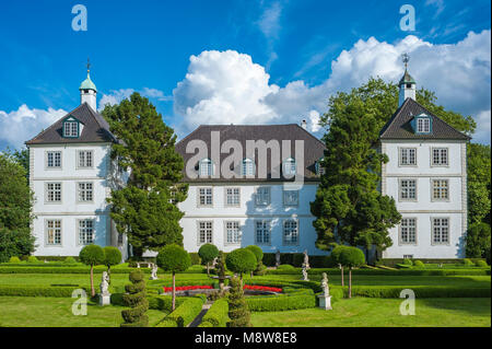
[[[78,138],[62,137],[62,123],[69,116],[73,116],[84,126],[82,129],[82,133]],[[31,146],[49,143],[85,143],[115,141],[116,137],[109,131],[109,124],[107,124],[107,121],[103,116],[101,116],[101,114],[90,107],[89,104],[83,103],[25,143],[27,146]]]

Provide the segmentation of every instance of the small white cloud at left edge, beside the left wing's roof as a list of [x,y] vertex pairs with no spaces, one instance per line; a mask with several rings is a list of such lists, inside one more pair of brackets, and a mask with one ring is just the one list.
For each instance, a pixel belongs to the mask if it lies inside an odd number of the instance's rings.
[[16,110],[0,110],[0,142],[19,149],[66,114],[63,109],[31,109],[25,104]]

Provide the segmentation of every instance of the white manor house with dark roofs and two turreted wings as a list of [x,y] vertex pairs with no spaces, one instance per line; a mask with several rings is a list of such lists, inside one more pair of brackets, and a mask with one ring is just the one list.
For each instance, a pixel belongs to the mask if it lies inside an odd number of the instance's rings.
[[[399,107],[380,131],[379,150],[389,156],[380,189],[395,198],[402,220],[391,229],[394,244],[382,257],[461,258],[469,137],[415,102],[415,82],[407,70],[399,86]],[[118,140],[96,110],[97,90],[89,70],[79,90],[80,106],[26,141],[35,196],[35,255],[78,256],[84,245],[95,243],[117,246],[127,258],[126,236],[116,231],[106,201],[112,188],[125,185],[125,176],[118,175],[110,160],[112,143]],[[222,148],[227,140],[241,146],[244,155],[237,178],[219,171],[227,152],[198,158],[187,151],[191,140],[213,148],[213,137],[220,138]],[[266,156],[270,170],[260,176],[265,163],[258,164],[259,150],[248,152],[248,142],[263,142],[269,154],[278,142],[282,158]],[[212,243],[230,252],[256,244],[270,253],[326,254],[315,246],[315,218],[309,210],[325,144],[306,130],[305,121],[301,126],[202,125],[176,150],[185,164],[194,165],[184,170],[189,190],[179,203],[185,212],[180,222],[185,249],[198,252],[200,245]],[[303,184],[293,186],[291,177],[300,172]]]

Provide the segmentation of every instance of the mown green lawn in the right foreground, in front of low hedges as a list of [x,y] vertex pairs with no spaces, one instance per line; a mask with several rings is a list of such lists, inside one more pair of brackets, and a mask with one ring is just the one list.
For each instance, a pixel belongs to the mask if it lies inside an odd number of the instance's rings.
[[403,300],[343,299],[332,311],[306,309],[253,313],[255,327],[490,327],[490,299],[425,299],[415,301],[415,315],[400,315]]

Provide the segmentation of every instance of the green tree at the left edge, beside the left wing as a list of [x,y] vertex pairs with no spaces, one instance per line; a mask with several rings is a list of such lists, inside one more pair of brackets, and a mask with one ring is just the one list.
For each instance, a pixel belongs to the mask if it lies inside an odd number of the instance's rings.
[[10,152],[0,153],[0,261],[34,252],[33,198],[24,166]]

